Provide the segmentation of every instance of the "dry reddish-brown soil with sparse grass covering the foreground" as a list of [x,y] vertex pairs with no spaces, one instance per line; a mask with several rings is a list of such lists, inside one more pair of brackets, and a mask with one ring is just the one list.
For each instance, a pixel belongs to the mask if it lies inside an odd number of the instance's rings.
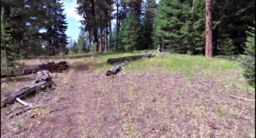
[[[1,99],[34,78],[1,79]],[[255,137],[255,103],[228,96],[252,99],[255,92],[226,89],[203,76],[107,77],[79,65],[54,79],[56,89],[25,100],[42,107],[11,119],[6,113],[22,105],[1,109],[1,137]]]

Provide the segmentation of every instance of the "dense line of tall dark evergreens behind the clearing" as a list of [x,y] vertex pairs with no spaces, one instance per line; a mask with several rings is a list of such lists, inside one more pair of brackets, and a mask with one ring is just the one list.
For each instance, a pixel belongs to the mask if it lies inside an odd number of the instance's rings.
[[[20,57],[156,49],[205,54],[205,0],[76,0],[78,40],[61,0],[1,0],[1,64]],[[255,57],[255,0],[212,1],[213,54]],[[255,58],[253,58],[255,61]]]

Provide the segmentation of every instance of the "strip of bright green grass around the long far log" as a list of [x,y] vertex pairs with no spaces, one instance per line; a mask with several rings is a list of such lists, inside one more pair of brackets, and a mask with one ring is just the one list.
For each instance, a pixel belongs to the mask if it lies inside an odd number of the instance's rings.
[[[151,51],[155,53],[154,51]],[[97,63],[91,70],[108,70],[113,65],[107,65],[107,60],[110,58],[127,57],[132,55],[144,54],[144,51],[134,53],[112,53],[112,54],[99,54]],[[176,72],[193,76],[203,70],[214,70],[215,72],[222,72],[225,70],[240,70],[238,63],[231,60],[221,59],[206,59],[203,56],[191,56],[186,54],[165,54],[161,56],[157,54],[157,57],[135,60],[129,62],[129,65],[125,68],[130,71],[147,71],[158,73],[159,70],[164,72]],[[206,73],[207,74],[207,73]]]

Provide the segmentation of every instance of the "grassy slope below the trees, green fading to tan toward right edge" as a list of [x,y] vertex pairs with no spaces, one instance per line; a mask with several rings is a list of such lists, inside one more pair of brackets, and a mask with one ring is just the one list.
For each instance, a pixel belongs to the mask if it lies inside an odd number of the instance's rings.
[[[106,71],[113,65],[106,64],[109,58],[125,57],[144,52],[107,54],[99,55],[97,60],[84,59],[84,62],[94,63],[91,70]],[[152,51],[154,53],[154,51]],[[78,62],[77,62],[78,63]],[[80,62],[82,64],[83,62]],[[78,63],[79,64],[79,63]],[[224,59],[206,59],[203,56],[191,56],[187,54],[157,54],[157,57],[129,62],[125,67],[128,72],[147,72],[147,73],[180,73],[181,75],[204,76],[214,79],[219,84],[225,84],[227,88],[237,87],[247,91],[252,89],[246,84],[242,76],[242,68],[238,62]]]

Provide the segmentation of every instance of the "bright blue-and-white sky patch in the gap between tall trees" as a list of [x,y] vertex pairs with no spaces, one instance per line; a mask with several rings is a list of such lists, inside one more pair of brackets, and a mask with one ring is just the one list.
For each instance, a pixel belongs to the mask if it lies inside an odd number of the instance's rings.
[[[159,0],[157,0],[158,2]],[[67,36],[71,36],[72,40],[77,40],[78,35],[80,33],[80,26],[79,20],[83,20],[75,12],[75,7],[77,7],[76,0],[64,0],[64,14],[66,14],[66,21],[68,23],[66,34]],[[115,23],[115,21],[113,20]]]

